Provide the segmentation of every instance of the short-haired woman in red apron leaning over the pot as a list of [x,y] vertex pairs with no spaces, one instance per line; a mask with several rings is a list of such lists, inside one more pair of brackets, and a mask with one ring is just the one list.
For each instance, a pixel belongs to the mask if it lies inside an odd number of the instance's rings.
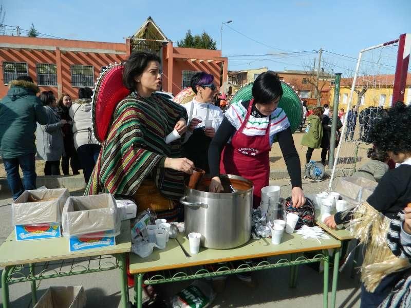
[[[269,152],[275,137],[290,175],[293,205],[299,207],[305,203],[300,158],[290,123],[284,110],[277,108],[282,94],[277,74],[267,71],[254,81],[251,101],[231,104],[209,148],[210,191],[223,190],[220,174],[238,175],[254,183],[253,207],[257,208],[261,188],[269,184]],[[227,143],[230,138],[231,142]]]

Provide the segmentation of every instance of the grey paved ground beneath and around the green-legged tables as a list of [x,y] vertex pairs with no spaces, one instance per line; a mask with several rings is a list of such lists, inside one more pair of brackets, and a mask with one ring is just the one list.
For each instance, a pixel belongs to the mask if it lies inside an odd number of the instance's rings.
[[[289,180],[274,180],[271,184],[282,186],[282,197],[290,196]],[[328,181],[313,183],[303,180],[304,191],[308,193],[324,190]],[[71,195],[81,195],[82,190],[72,190]],[[12,231],[10,217],[12,200],[6,190],[0,190],[0,243]],[[331,273],[330,273],[331,276]],[[288,287],[288,269],[279,268],[260,271],[254,274],[258,284],[256,288],[248,288],[235,276],[230,276],[224,292],[217,295],[211,307],[321,307],[322,306],[322,274],[308,266],[300,266],[298,283],[295,288]],[[42,280],[39,286],[39,297],[51,285],[83,285],[87,294],[87,307],[113,308],[120,300],[119,278],[115,271],[97,274],[86,274],[65,278]],[[330,277],[331,286],[331,277]],[[162,285],[168,296],[178,292],[188,283]],[[130,290],[130,298],[134,291]],[[10,286],[12,307],[30,306],[30,284],[19,283]],[[330,300],[330,299],[329,299]],[[2,305],[1,305],[2,306]],[[359,280],[349,277],[349,266],[340,274],[337,307],[359,307]]]

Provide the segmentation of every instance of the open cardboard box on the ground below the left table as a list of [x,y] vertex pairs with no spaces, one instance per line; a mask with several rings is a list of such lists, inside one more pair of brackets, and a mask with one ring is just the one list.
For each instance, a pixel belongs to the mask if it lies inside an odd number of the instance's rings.
[[86,301],[82,286],[51,286],[33,308],[83,308]]

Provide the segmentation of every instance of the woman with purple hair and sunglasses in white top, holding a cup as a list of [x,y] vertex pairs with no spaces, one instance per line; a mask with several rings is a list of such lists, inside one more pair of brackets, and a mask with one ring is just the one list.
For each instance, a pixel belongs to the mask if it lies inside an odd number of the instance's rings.
[[184,105],[191,121],[185,133],[184,157],[209,173],[209,145],[223,119],[221,109],[213,104],[217,93],[214,76],[204,72],[195,74],[191,79],[191,88],[196,96]]

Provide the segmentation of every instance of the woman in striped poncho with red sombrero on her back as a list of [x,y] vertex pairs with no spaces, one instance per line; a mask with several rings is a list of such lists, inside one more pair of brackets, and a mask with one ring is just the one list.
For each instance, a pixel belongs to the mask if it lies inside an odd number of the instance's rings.
[[[129,94],[118,103],[101,102],[104,91],[110,94],[107,100],[124,92],[120,81],[110,85],[116,70],[123,70],[122,81]],[[102,149],[85,194],[125,195],[136,200],[139,211],[150,207],[159,218],[173,221],[180,214],[177,200],[184,192],[183,172],[192,174],[194,164],[181,158],[181,138],[165,143],[174,129],[185,133],[188,117],[184,107],[154,93],[161,81],[160,58],[150,52],[133,52],[124,66],[115,65],[103,73],[93,106],[95,135],[103,139]],[[109,117],[99,104],[113,105]],[[104,119],[112,120],[101,128]],[[106,136],[101,133],[104,129]]]

